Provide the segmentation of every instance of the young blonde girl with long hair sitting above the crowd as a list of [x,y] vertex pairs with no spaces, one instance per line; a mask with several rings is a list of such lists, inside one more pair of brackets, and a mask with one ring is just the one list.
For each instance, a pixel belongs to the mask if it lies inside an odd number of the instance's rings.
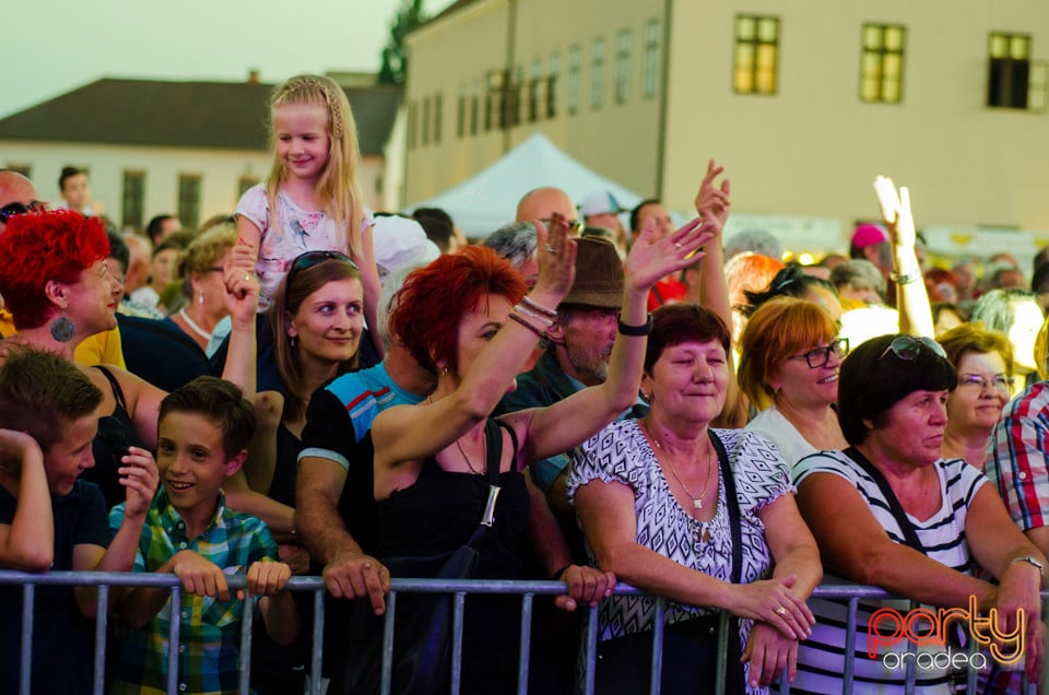
[[[292,78],[270,99],[273,168],[237,204],[239,243],[257,250],[259,310],[267,310],[292,261],[305,251],[342,251],[361,269],[364,317],[376,326],[379,275],[372,211],[357,185],[361,152],[346,95],[333,80]],[[381,356],[381,341],[372,331]]]

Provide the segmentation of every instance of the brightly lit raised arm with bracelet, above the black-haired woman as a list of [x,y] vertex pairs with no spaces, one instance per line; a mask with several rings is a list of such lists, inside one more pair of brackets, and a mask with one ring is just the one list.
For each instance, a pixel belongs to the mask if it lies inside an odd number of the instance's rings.
[[921,266],[915,246],[918,233],[915,231],[915,217],[910,212],[910,191],[906,186],[896,186],[893,179],[879,176],[874,179],[874,193],[882,213],[882,221],[888,229],[893,247],[893,271],[896,280],[896,309],[899,313],[899,331],[911,335],[934,338],[935,323],[932,320],[932,307],[929,293],[922,278]]

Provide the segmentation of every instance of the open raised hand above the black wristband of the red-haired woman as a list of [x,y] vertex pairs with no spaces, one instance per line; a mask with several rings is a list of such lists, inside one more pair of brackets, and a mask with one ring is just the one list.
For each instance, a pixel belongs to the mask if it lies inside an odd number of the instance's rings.
[[660,279],[692,266],[703,258],[698,249],[717,229],[716,223],[695,217],[673,234],[657,238],[651,225],[646,225],[624,263],[627,287],[647,293]]

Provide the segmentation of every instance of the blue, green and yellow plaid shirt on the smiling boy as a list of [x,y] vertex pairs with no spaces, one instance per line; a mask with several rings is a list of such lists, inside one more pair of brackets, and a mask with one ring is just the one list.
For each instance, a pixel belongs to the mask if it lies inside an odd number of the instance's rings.
[[[109,513],[110,528],[120,528],[122,519],[121,504]],[[266,523],[258,517],[226,509],[222,493],[215,516],[204,532],[195,539],[187,538],[186,525],[162,487],[142,529],[134,572],[156,572],[182,550],[199,553],[227,575],[245,574],[260,559],[278,559],[276,543]],[[111,694],[166,693],[170,612],[168,599],[149,627],[125,629]],[[244,601],[222,602],[215,597],[182,593],[179,692],[195,695],[237,692],[243,612]]]

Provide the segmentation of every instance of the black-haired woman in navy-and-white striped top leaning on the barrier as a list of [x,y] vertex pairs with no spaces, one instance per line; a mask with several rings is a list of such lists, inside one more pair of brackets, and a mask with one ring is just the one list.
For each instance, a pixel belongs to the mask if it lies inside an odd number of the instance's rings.
[[[861,600],[851,655],[841,649],[848,602],[812,601],[816,626],[799,649],[795,692],[841,692],[845,658],[858,693],[903,693],[909,664],[917,665],[915,692],[953,692],[950,667],[960,664],[950,658],[945,664],[942,655],[964,652],[953,633],[970,625],[969,611],[987,615],[990,609],[1000,616],[999,628],[1013,638],[1003,657],[1015,655],[1023,640],[1019,663],[1029,676],[1040,678],[1038,591],[1047,561],[1010,519],[983,473],[941,456],[947,398],[957,382],[955,366],[929,338],[873,338],[841,364],[838,415],[851,446],[805,457],[794,467],[798,506],[828,576],[907,600]],[[983,573],[997,584],[981,578]],[[912,634],[930,634],[929,621],[909,613],[910,601],[927,615],[936,615],[936,609],[965,613],[942,643],[923,641],[920,656],[905,659],[901,653],[915,648],[897,639],[903,623]],[[992,662],[983,656],[964,660],[965,665]]]

